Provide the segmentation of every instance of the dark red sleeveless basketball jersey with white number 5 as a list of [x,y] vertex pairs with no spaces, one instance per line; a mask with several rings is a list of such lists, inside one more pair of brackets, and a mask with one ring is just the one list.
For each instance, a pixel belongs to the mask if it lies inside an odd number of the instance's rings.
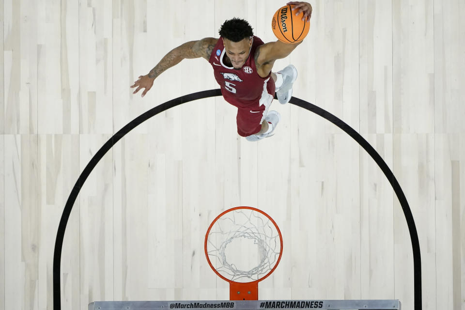
[[259,106],[260,98],[266,93],[275,95],[275,82],[271,78],[271,72],[266,78],[262,78],[255,67],[255,50],[262,44],[263,41],[259,37],[253,37],[248,59],[240,70],[224,63],[226,50],[222,37],[218,39],[210,55],[209,62],[213,67],[215,79],[221,86],[224,99],[237,108],[265,109]]

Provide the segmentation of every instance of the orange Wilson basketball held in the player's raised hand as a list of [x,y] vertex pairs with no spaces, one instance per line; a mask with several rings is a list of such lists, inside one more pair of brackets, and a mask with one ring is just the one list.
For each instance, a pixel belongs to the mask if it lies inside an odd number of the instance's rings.
[[273,15],[271,28],[279,41],[284,43],[297,43],[302,41],[309,33],[310,22],[303,21],[304,13],[300,12],[298,16],[292,12],[294,5],[286,5],[279,8]]

